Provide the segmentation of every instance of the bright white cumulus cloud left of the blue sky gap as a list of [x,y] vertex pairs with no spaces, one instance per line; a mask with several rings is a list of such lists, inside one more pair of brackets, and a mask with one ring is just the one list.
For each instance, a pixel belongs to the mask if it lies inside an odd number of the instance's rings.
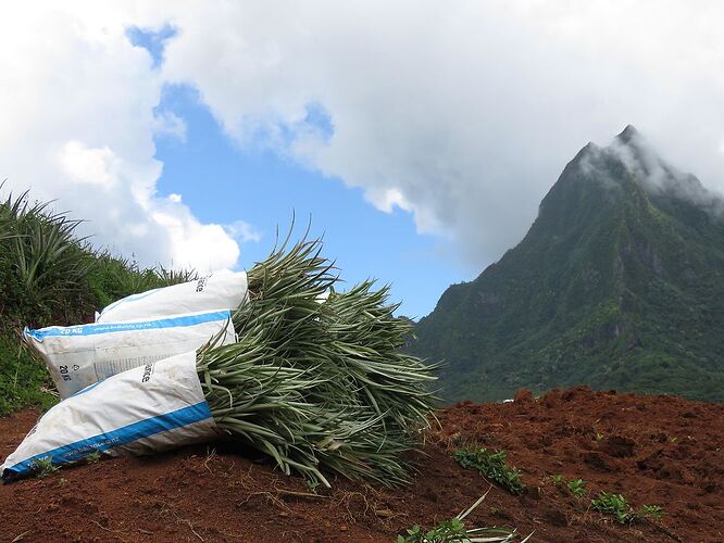
[[86,219],[82,233],[143,264],[232,267],[239,247],[224,227],[200,223],[178,194],[157,194],[153,136],[183,140],[185,124],[153,113],[163,79],[126,30],[163,20],[130,3],[3,8],[3,189],[55,200],[55,209]]

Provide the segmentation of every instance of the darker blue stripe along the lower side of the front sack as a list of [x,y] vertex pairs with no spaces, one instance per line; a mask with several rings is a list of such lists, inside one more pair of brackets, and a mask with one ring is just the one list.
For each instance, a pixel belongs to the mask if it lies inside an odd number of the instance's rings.
[[33,471],[35,462],[41,458],[50,457],[54,466],[68,464],[85,458],[96,451],[107,451],[142,438],[148,438],[155,433],[180,428],[182,426],[192,425],[194,422],[200,422],[208,418],[211,418],[209,404],[207,402],[199,402],[189,407],[176,409],[166,413],[165,415],[159,415],[158,417],[139,420],[138,422],[133,422],[123,428],[118,428],[117,430],[100,433],[92,438],[36,454],[23,462],[18,462],[14,466],[5,468],[2,472],[2,478],[5,479],[28,475]]

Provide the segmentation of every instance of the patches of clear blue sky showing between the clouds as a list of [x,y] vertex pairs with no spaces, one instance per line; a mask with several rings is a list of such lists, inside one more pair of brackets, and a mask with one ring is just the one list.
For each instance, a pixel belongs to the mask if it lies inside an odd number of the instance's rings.
[[[135,45],[162,62],[163,39],[173,36],[137,28],[128,31]],[[274,244],[276,229],[286,232],[296,216],[301,235],[311,218],[312,236],[324,237],[325,254],[336,260],[346,283],[369,277],[392,286],[399,314],[420,318],[434,307],[452,282],[475,275],[446,248],[446,241],[416,232],[410,213],[376,210],[361,189],[345,187],[335,178],[282,156],[270,149],[240,146],[224,134],[198,92],[187,85],[167,85],[159,112],[172,112],[186,124],[186,138],[159,135],[155,157],[163,162],[157,188],[160,195],[179,193],[202,223],[249,223],[259,241],[240,244],[237,268],[264,258]],[[324,131],[334,130],[323,109],[309,108],[308,119]]]

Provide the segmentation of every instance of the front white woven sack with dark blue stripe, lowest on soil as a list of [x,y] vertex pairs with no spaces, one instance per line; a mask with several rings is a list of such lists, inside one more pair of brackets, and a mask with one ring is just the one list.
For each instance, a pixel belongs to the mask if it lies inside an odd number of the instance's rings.
[[60,402],[5,458],[0,473],[12,480],[33,473],[39,462],[59,466],[93,453],[150,454],[215,434],[196,353],[184,353],[117,374]]

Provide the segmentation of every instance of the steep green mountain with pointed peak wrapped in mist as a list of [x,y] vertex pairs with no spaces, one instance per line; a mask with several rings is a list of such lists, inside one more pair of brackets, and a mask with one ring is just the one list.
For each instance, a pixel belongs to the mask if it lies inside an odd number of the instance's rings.
[[724,401],[724,200],[631,126],[589,143],[523,241],[416,333],[449,401],[574,383]]

